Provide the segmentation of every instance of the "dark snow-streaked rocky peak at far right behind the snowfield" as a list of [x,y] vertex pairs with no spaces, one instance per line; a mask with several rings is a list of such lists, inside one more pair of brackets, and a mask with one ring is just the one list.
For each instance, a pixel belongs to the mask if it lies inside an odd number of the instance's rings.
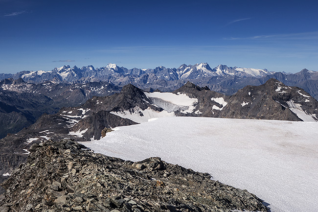
[[275,79],[261,86],[247,86],[230,96],[220,113],[224,118],[257,118],[317,121],[317,100],[302,89]]

